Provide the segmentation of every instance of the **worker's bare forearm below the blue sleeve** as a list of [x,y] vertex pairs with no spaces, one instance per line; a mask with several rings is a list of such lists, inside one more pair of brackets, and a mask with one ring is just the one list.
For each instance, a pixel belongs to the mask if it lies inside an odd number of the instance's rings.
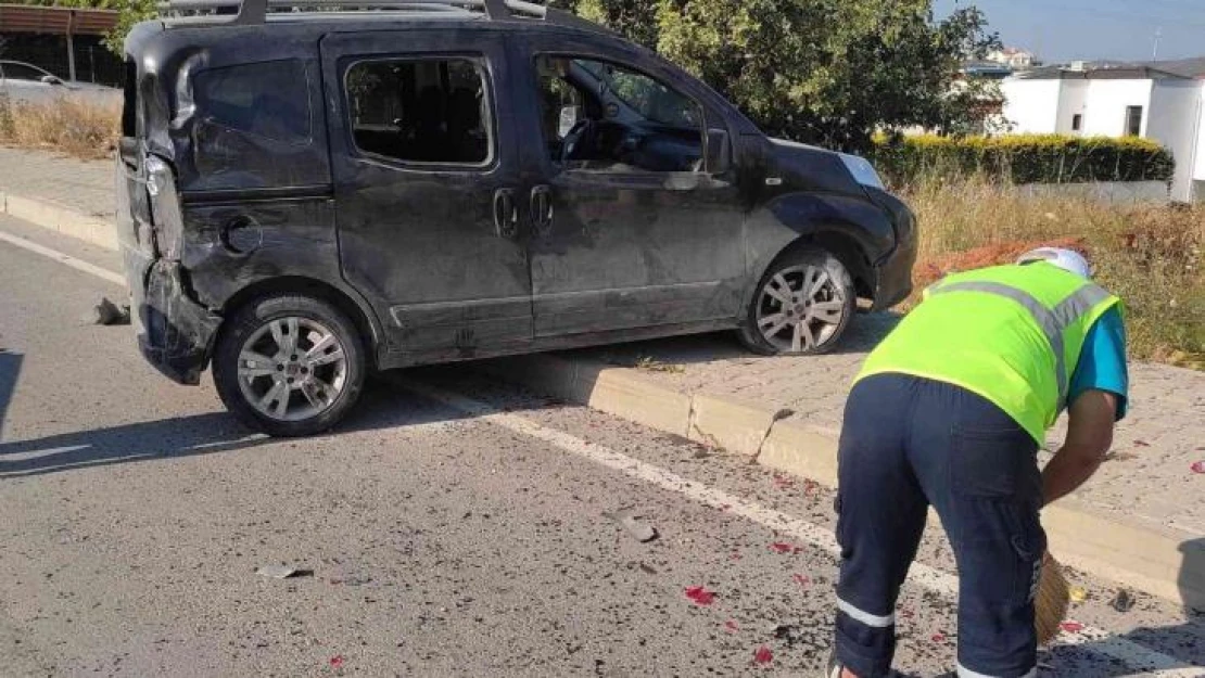
[[1107,391],[1083,391],[1071,403],[1069,415],[1066,442],[1042,471],[1046,503],[1074,493],[1100,468],[1113,444],[1117,396]]

